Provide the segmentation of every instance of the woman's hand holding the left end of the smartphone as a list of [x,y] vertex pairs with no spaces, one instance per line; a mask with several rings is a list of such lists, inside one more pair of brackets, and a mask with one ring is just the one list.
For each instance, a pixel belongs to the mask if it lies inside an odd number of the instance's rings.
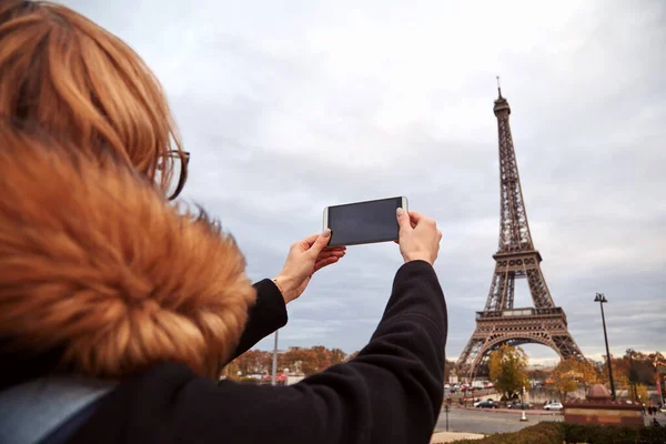
[[282,271],[273,279],[285,303],[303,294],[314,273],[344,256],[345,246],[326,248],[330,239],[331,230],[326,229],[292,244]]

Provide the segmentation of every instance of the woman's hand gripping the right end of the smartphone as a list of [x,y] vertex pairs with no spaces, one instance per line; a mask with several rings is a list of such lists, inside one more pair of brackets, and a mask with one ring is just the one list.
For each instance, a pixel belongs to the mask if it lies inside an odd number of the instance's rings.
[[406,213],[401,208],[396,213],[400,252],[405,262],[422,260],[434,264],[442,240],[442,232],[437,230],[435,221],[415,211]]

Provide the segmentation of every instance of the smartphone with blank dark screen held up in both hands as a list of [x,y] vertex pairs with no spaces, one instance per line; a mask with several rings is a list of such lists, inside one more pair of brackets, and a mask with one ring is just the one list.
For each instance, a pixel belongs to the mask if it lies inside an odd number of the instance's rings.
[[398,208],[408,211],[407,198],[346,203],[324,209],[324,230],[331,229],[329,246],[397,241]]

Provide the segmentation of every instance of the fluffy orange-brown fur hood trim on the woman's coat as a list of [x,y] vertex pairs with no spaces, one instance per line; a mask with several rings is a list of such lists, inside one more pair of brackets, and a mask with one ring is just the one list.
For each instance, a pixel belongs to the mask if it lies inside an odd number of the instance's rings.
[[167,361],[219,376],[255,300],[234,240],[79,151],[0,129],[3,347],[99,377]]

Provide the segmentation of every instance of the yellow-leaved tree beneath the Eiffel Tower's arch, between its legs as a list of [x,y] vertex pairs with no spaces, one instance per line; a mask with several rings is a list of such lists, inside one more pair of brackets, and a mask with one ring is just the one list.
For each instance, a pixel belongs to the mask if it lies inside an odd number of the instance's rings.
[[527,354],[521,347],[508,344],[501,345],[491,353],[488,367],[491,382],[507,397],[513,397],[516,392],[529,383],[525,372]]

